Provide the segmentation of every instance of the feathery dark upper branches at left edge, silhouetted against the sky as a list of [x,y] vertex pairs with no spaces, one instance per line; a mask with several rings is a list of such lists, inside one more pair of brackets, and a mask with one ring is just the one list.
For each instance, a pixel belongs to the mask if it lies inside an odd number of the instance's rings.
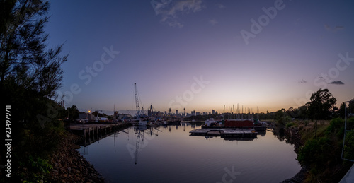
[[[16,85],[32,89],[51,98],[61,87],[61,65],[67,56],[59,57],[62,45],[47,49],[48,35],[44,25],[49,3],[44,1],[0,2],[0,91],[4,81],[13,78]],[[47,50],[46,50],[47,49]]]

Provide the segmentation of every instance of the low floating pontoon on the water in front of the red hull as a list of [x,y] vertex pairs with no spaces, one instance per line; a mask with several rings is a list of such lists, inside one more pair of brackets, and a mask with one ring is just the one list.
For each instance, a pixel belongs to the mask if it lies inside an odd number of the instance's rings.
[[192,136],[221,136],[221,137],[251,137],[256,138],[254,129],[194,129],[189,132]]

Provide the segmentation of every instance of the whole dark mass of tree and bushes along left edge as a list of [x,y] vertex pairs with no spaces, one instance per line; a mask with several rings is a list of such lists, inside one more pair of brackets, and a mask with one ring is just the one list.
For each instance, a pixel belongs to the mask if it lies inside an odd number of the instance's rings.
[[0,182],[38,182],[49,173],[47,159],[64,132],[64,108],[53,99],[67,55],[62,45],[47,47],[47,1],[4,0],[0,7],[1,107],[11,106],[6,138],[12,140],[11,155],[1,146],[0,164],[11,160],[11,174],[1,171]]

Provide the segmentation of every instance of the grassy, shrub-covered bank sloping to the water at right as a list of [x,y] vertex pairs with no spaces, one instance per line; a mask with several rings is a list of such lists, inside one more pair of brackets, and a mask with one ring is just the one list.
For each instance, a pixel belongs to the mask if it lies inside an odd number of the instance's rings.
[[[294,121],[285,126],[278,126],[284,131],[287,141],[294,144],[297,160],[302,169],[294,177],[286,179],[290,182],[338,182],[353,163],[341,160],[343,144],[343,119],[319,121],[317,132],[311,121]],[[354,120],[348,120],[353,126]],[[350,126],[350,125],[349,125]],[[317,134],[317,136],[315,136]],[[348,138],[348,153],[351,155],[353,138]],[[351,157],[351,156],[350,156]]]

